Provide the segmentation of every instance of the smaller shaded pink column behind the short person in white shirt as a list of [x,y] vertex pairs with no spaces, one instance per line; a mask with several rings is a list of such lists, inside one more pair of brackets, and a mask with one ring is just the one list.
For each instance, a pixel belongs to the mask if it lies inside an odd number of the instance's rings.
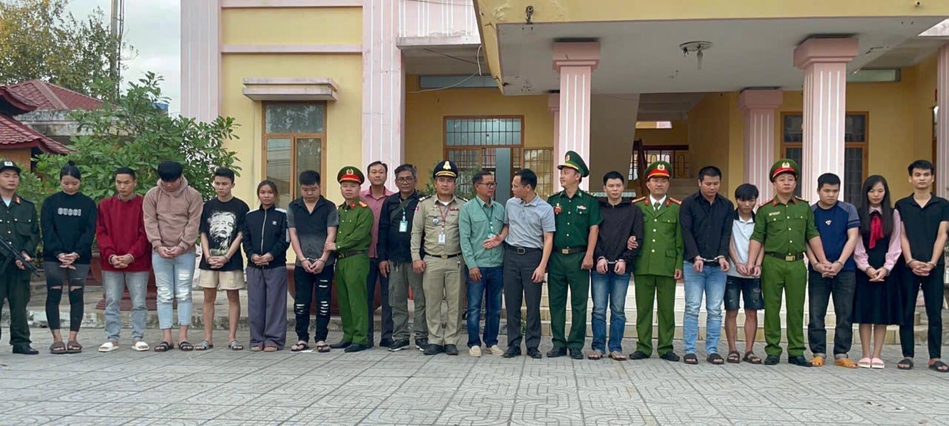
[[774,110],[784,93],[776,89],[748,89],[738,95],[745,114],[745,182],[758,187],[758,199],[771,199],[774,191],[768,173],[774,161]]

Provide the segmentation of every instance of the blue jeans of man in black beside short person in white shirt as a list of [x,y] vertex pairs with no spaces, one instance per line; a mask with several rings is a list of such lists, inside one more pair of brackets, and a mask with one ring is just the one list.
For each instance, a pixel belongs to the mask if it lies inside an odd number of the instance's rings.
[[705,353],[718,353],[721,339],[721,304],[725,298],[725,281],[728,278],[716,263],[706,262],[701,272],[692,269],[692,264],[683,262],[685,277],[685,320],[682,324],[682,343],[685,353],[696,353],[698,339],[698,309],[705,295]]

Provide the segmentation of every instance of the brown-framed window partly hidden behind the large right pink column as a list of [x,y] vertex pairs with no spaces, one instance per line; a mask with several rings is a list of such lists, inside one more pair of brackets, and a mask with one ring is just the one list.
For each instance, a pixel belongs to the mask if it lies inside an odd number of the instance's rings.
[[[865,112],[847,113],[844,119],[844,201],[859,204],[861,187],[866,178],[866,146],[869,128],[869,114]],[[804,164],[801,142],[804,140],[804,115],[801,113],[785,113],[781,116],[782,139],[781,147],[784,157]],[[801,185],[797,185],[794,192],[803,196]],[[813,198],[813,190],[809,190],[805,199]]]

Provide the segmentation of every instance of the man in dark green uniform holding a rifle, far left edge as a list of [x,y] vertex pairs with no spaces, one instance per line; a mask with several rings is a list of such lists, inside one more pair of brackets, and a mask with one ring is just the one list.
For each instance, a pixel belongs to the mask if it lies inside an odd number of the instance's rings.
[[[21,250],[27,261],[40,243],[40,227],[36,220],[36,206],[16,194],[20,184],[20,168],[7,159],[0,160],[0,238],[15,250]],[[9,301],[9,343],[14,354],[36,355],[29,345],[27,303],[29,302],[29,272],[20,261],[0,254],[0,309]]]

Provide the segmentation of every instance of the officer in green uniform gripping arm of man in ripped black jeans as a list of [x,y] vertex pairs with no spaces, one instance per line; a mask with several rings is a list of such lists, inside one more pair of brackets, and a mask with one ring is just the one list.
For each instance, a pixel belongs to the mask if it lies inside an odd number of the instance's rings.
[[326,250],[335,250],[336,296],[343,320],[343,341],[332,345],[345,352],[369,348],[369,307],[365,305],[365,280],[369,276],[369,243],[372,241],[372,210],[359,197],[363,172],[359,167],[344,167],[336,175],[344,202],[340,204],[340,227],[336,242],[326,243]]

